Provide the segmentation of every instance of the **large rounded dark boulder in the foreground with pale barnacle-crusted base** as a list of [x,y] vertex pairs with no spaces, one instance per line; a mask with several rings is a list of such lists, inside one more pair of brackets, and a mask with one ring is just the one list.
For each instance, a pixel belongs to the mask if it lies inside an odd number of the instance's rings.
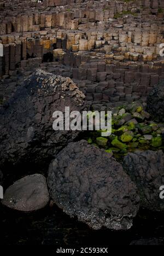
[[139,208],[136,185],[112,154],[69,143],[49,166],[50,196],[71,217],[100,229],[130,229]]

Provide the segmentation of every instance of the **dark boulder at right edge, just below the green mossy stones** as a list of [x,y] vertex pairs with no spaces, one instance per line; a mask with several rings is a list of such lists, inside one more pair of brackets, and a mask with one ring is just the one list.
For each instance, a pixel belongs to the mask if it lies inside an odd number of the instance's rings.
[[124,158],[124,167],[138,187],[141,205],[153,211],[163,211],[164,200],[160,199],[160,187],[164,184],[162,150],[129,153]]

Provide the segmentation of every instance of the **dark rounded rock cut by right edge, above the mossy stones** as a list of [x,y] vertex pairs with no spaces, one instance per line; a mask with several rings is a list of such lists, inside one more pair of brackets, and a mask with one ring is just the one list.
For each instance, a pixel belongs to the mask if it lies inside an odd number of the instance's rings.
[[164,80],[150,92],[147,98],[147,111],[157,121],[164,122]]

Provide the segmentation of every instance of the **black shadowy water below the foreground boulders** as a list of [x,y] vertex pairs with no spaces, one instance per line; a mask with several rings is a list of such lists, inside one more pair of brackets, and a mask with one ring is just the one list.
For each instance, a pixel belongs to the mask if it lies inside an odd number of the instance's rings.
[[[130,245],[140,238],[160,238],[164,234],[163,213],[141,210],[127,231],[91,230],[71,219],[56,206],[22,213],[0,206],[2,245],[54,245],[57,247],[102,247]],[[164,245],[164,243],[163,243]]]

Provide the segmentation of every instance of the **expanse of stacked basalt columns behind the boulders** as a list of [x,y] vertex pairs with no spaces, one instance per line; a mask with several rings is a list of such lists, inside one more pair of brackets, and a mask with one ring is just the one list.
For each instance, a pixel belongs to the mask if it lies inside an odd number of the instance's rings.
[[4,83],[40,67],[73,78],[86,100],[118,102],[145,101],[164,78],[163,0],[13,0],[0,8]]

